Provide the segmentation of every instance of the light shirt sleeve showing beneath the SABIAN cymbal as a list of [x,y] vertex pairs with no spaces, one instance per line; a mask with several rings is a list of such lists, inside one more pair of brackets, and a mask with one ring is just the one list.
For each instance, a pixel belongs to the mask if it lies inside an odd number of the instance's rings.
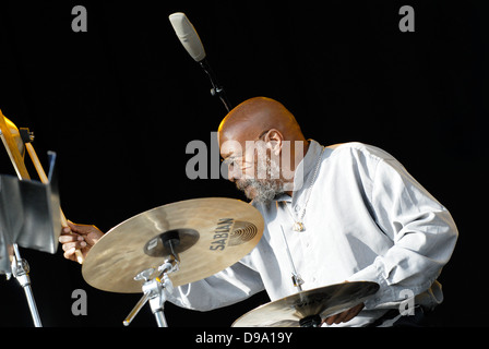
[[210,311],[242,301],[264,289],[260,274],[241,262],[205,279],[167,292],[167,300],[178,306]]

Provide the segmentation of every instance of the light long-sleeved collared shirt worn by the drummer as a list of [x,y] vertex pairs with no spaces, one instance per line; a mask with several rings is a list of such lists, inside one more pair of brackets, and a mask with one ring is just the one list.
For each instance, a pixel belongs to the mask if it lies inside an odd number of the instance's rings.
[[[395,158],[361,143],[323,148],[311,140],[301,165],[303,177],[298,172],[295,182],[303,185],[293,197],[252,203],[265,220],[259,244],[231,267],[176,288],[169,301],[205,311],[263,289],[272,301],[296,293],[281,226],[303,290],[345,280],[380,285],[360,314],[343,325],[368,325],[385,309],[398,308],[406,294],[430,309],[442,301],[437,278],[458,232],[446,208]],[[303,208],[306,229],[294,231]]]

